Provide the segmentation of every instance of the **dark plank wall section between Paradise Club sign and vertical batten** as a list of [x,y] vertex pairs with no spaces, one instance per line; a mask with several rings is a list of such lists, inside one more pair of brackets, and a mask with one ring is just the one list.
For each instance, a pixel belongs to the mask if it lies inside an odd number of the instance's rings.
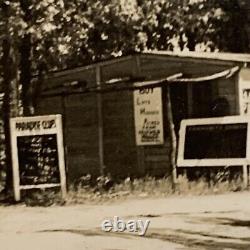
[[91,94],[65,97],[64,137],[71,180],[100,172],[96,99]]

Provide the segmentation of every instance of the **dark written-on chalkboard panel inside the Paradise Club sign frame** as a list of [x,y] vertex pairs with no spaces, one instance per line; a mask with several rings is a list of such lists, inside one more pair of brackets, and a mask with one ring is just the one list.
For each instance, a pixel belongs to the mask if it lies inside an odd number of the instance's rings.
[[60,183],[56,135],[17,138],[21,185]]

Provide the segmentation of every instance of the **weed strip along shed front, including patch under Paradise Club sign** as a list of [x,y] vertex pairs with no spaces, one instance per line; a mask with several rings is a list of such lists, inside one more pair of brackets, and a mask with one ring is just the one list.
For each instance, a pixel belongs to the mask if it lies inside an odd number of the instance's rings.
[[199,176],[190,180],[185,174],[178,177],[173,190],[170,178],[144,177],[139,179],[126,178],[115,182],[111,176],[100,176],[96,179],[91,175],[83,176],[70,186],[66,200],[62,201],[59,190],[27,190],[22,196],[28,206],[51,206],[64,204],[97,204],[125,199],[143,199],[148,197],[168,197],[171,195],[206,195],[222,194],[243,190],[242,178],[237,175],[229,178],[227,172]]

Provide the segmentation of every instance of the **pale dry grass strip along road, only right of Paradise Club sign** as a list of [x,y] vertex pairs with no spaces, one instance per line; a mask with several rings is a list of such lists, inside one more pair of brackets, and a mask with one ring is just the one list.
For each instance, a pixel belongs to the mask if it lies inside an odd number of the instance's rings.
[[145,177],[131,180],[125,179],[114,184],[109,190],[90,186],[78,186],[70,188],[67,195],[67,204],[102,203],[109,201],[120,201],[128,198],[143,199],[148,197],[168,197],[172,195],[206,195],[222,194],[243,190],[242,179],[238,177],[233,180],[211,179],[210,181],[201,177],[190,181],[185,175],[177,179],[173,189],[170,178],[157,179]]

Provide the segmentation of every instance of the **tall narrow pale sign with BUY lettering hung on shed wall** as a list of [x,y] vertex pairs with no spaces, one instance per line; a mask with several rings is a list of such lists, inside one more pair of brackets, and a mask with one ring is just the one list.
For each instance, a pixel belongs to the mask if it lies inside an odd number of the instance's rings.
[[136,144],[163,144],[162,90],[144,88],[134,91]]

